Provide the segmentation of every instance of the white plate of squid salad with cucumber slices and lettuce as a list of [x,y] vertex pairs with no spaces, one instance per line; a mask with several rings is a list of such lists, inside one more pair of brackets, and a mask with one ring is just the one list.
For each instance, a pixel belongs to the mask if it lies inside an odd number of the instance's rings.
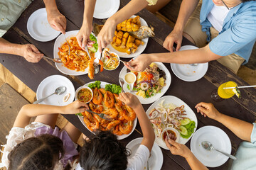
[[178,133],[179,139],[176,141],[183,145],[191,139],[198,126],[196,114],[180,98],[176,96],[164,96],[155,101],[146,111],[156,135],[156,144],[164,149],[168,149],[163,140],[164,125],[172,128]]

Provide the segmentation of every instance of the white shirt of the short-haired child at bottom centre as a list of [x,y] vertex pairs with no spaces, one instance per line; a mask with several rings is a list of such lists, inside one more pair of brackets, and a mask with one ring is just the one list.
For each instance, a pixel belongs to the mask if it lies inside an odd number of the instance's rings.
[[[143,170],[149,159],[149,154],[149,149],[145,145],[139,145],[134,156],[128,159],[127,170]],[[75,170],[82,170],[80,164],[76,166]]]

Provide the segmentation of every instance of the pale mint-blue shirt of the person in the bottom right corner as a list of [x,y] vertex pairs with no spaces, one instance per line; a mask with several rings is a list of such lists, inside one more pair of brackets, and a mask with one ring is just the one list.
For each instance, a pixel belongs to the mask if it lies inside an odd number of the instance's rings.
[[232,170],[255,170],[256,169],[256,123],[253,123],[251,142],[242,142],[235,154]]

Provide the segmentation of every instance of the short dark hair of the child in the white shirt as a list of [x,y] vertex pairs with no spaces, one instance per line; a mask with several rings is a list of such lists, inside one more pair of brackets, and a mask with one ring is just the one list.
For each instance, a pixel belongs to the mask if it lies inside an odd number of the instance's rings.
[[85,140],[80,151],[80,166],[85,170],[125,170],[130,152],[110,131],[97,131]]

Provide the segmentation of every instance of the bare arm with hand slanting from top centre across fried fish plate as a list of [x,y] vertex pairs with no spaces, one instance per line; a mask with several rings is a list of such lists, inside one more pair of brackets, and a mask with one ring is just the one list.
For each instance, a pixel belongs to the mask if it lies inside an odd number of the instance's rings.
[[105,48],[114,37],[114,30],[118,23],[126,20],[134,13],[138,13],[149,4],[146,0],[132,0],[124,6],[117,13],[107,19],[99,35],[97,35],[99,50],[102,52],[102,48]]

